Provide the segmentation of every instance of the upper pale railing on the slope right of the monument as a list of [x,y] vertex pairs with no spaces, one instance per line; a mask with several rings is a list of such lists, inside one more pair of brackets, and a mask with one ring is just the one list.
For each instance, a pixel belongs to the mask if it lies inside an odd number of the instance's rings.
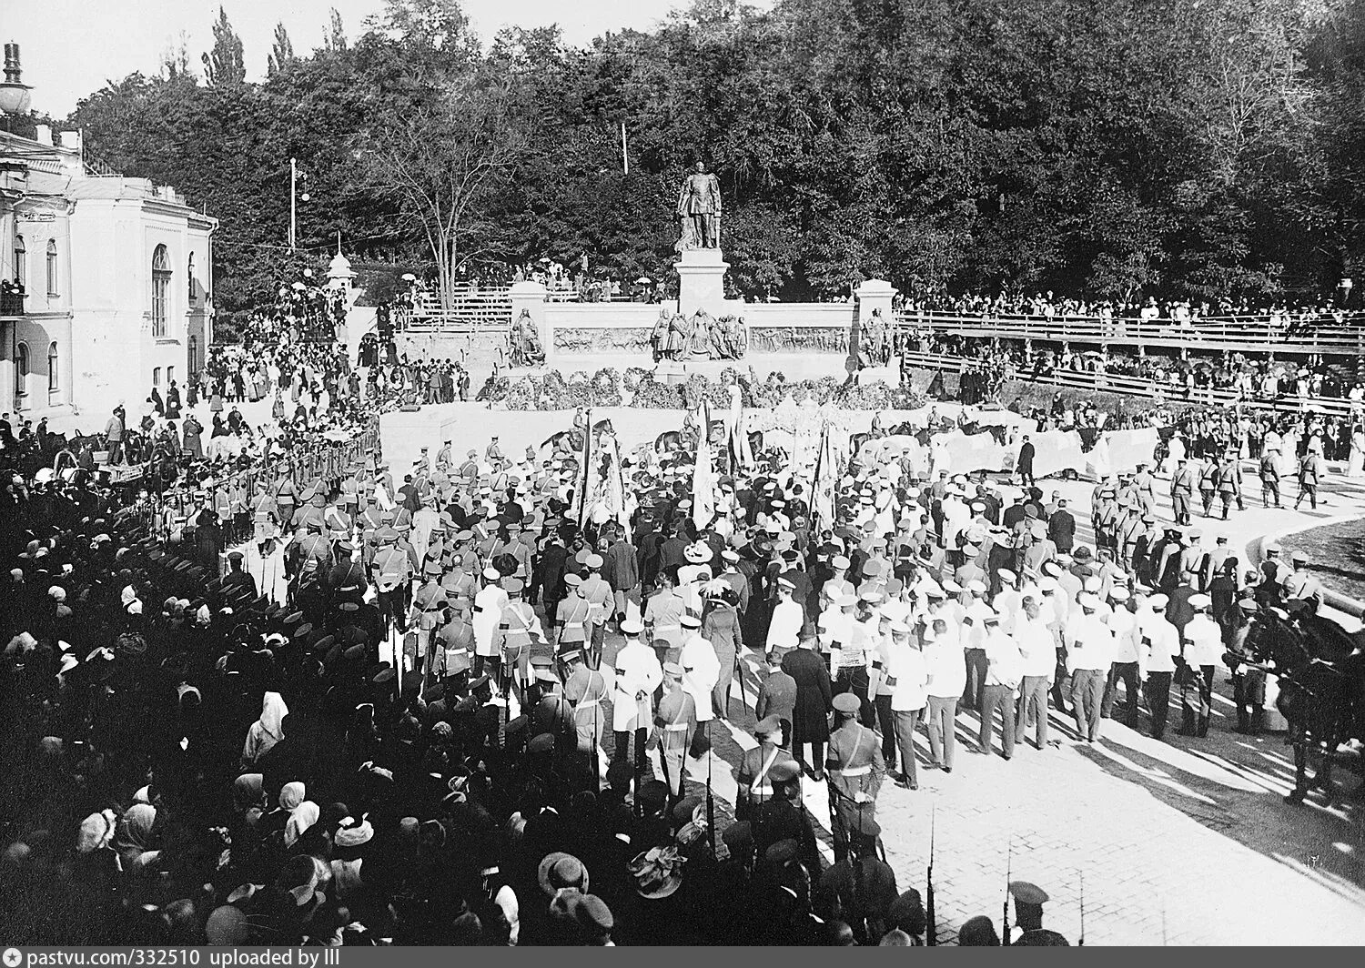
[[1284,354],[1365,352],[1365,313],[1284,313],[1179,321],[906,310],[897,314],[897,322],[902,330],[928,329],[954,336],[1052,343],[1129,343]]

